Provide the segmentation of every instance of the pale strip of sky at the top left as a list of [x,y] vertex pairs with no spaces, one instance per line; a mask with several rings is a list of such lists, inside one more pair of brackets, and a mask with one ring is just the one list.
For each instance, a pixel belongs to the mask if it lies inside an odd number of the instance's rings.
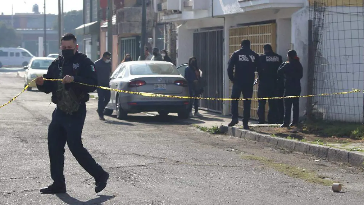
[[[11,6],[13,13],[31,13],[34,4],[38,4],[39,12],[44,11],[44,0],[0,0],[0,13],[11,15]],[[64,12],[71,10],[82,10],[82,0],[63,0]],[[58,14],[58,0],[46,0],[46,13]]]

